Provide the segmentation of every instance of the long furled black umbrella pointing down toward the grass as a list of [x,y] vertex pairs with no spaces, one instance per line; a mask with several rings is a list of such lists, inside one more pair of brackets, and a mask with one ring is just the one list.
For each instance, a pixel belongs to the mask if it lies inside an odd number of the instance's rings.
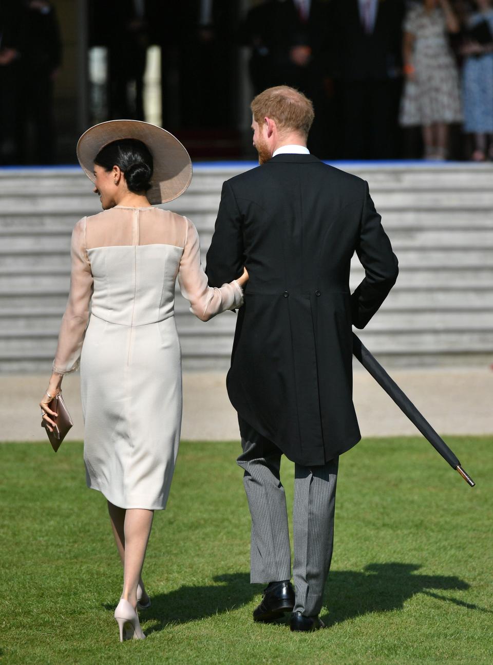
[[401,411],[406,414],[406,416],[411,420],[411,422],[418,428],[418,430],[423,434],[427,440],[431,443],[433,448],[441,454],[444,460],[450,464],[452,469],[455,469],[462,475],[466,483],[471,487],[474,487],[476,483],[472,478],[462,469],[462,466],[456,456],[452,453],[450,448],[446,445],[443,438],[435,432],[433,427],[429,424],[425,418],[417,410],[413,402],[407,397],[399,388],[397,383],[390,378],[389,374],[385,372],[383,367],[369,352],[364,344],[361,344],[361,340],[353,332],[353,354],[355,358],[361,362],[363,367],[368,370],[368,372],[373,376],[375,381],[381,385],[383,390],[391,396],[395,404],[399,406]]

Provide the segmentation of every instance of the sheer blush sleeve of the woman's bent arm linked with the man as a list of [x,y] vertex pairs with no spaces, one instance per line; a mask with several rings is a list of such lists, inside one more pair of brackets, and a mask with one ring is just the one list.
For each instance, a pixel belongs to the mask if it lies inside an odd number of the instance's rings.
[[219,288],[207,285],[207,275],[201,264],[199,234],[189,219],[178,282],[181,295],[190,302],[191,313],[201,321],[209,321],[227,309],[243,305],[243,289],[236,280]]

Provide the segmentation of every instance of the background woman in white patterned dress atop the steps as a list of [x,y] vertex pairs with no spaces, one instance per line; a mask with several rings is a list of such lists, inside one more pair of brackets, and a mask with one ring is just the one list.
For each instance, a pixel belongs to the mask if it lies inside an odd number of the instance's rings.
[[423,0],[405,18],[400,122],[422,127],[425,159],[446,159],[448,126],[462,120],[458,70],[448,44],[448,33],[459,28],[448,0]]

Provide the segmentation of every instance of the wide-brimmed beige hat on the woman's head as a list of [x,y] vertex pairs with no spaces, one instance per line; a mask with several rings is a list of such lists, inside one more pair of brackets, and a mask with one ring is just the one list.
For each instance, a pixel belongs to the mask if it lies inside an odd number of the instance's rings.
[[86,176],[94,182],[94,159],[108,143],[121,138],[137,138],[152,155],[152,187],[147,192],[149,203],[167,203],[183,194],[192,179],[192,162],[187,150],[161,127],[141,120],[109,120],[94,125],[77,143],[77,158]]

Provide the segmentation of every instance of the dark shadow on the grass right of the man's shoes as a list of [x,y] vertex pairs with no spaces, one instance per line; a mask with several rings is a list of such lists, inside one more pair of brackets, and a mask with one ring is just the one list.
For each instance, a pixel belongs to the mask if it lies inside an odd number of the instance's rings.
[[388,612],[403,608],[406,600],[423,593],[468,610],[490,612],[477,605],[448,598],[434,591],[465,591],[470,585],[455,576],[416,575],[416,563],[369,563],[363,571],[333,571],[326,586],[326,607],[322,616],[326,626],[341,623],[369,612]]

